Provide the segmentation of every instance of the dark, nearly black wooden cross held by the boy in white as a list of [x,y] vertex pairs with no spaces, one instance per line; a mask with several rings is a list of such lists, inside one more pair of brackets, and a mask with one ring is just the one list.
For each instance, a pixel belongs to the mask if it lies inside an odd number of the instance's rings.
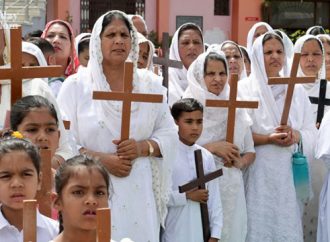
[[[216,170],[214,172],[211,172],[207,175],[204,174],[204,168],[203,168],[203,157],[202,157],[202,151],[201,150],[195,150],[195,166],[196,166],[196,174],[197,179],[193,180],[183,186],[179,186],[179,192],[187,192],[194,188],[198,189],[205,189],[205,184],[209,181],[212,181],[220,176],[222,176],[222,169]],[[204,242],[207,242],[211,237],[211,231],[210,231],[210,221],[209,221],[209,212],[207,209],[207,203],[201,203],[201,217],[202,217],[202,224],[203,224],[203,238]]]

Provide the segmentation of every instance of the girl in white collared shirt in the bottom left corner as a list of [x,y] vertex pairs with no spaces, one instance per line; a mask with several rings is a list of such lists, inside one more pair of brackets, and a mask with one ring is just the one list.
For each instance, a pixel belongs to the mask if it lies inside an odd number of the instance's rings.
[[[0,141],[0,240],[23,241],[23,200],[34,199],[41,185],[40,156],[30,141]],[[37,242],[58,233],[58,223],[37,210]]]

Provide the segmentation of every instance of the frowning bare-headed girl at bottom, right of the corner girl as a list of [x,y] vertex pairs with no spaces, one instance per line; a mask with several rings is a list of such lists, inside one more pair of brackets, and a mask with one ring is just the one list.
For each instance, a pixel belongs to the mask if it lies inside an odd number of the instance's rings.
[[96,242],[96,210],[108,207],[109,186],[108,172],[101,163],[85,155],[67,160],[55,176],[53,198],[60,215],[60,234],[53,242]]

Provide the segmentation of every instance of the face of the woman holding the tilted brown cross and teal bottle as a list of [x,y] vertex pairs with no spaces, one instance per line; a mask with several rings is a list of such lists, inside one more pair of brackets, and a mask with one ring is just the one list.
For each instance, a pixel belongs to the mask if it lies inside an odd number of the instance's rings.
[[284,48],[277,39],[269,39],[264,43],[264,62],[268,77],[277,77],[284,63]]

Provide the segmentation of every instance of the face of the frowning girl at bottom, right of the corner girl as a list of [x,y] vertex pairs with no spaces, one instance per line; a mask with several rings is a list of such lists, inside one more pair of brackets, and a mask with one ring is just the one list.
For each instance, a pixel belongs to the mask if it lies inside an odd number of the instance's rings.
[[94,167],[76,166],[55,199],[55,208],[62,213],[63,226],[75,229],[96,229],[96,209],[108,207],[108,190],[101,173]]

